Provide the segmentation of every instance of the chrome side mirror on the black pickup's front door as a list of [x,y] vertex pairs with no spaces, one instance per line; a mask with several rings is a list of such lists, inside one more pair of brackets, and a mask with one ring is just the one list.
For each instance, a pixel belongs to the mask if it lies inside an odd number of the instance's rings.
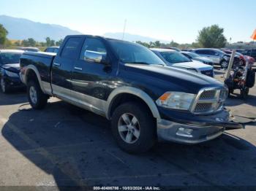
[[84,52],[83,59],[85,61],[103,63],[106,65],[110,63],[108,56],[106,55],[105,52],[95,52],[91,50],[86,50],[86,52]]

